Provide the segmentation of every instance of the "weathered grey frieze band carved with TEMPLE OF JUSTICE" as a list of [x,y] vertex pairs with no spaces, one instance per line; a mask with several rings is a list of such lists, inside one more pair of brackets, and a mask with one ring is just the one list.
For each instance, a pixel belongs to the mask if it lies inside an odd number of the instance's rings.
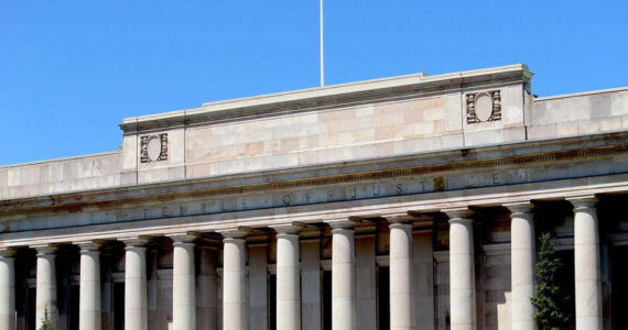
[[[122,212],[123,215],[120,213],[120,217],[124,221],[131,221],[453,191],[570,178],[572,172],[569,170],[569,166],[565,167],[562,175],[559,175],[559,172],[542,168],[548,166],[545,164],[551,164],[551,167],[555,168],[560,162],[577,164],[573,160],[578,157],[613,156],[619,153],[628,153],[628,145],[131,197],[120,200],[22,210],[19,213],[21,213],[20,217],[25,217],[26,213],[48,212],[48,215],[54,215],[50,212],[72,210],[73,213],[85,215],[83,210],[98,210]],[[607,161],[604,158],[599,161],[589,160],[591,164],[594,162]],[[528,164],[534,166],[523,166]],[[589,173],[589,175],[596,174]],[[154,211],[155,205],[159,206],[159,212]],[[180,206],[173,208],[173,205],[180,205],[181,208]],[[12,212],[12,215],[15,216],[17,212]]]

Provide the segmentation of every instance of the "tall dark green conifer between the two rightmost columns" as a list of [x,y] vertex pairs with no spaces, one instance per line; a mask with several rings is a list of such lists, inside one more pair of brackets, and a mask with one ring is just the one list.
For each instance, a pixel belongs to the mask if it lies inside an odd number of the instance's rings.
[[563,263],[556,256],[555,241],[550,233],[543,233],[539,241],[537,262],[535,296],[530,300],[537,309],[534,320],[539,330],[569,329],[571,315],[567,312],[570,296],[561,287],[559,273]]

